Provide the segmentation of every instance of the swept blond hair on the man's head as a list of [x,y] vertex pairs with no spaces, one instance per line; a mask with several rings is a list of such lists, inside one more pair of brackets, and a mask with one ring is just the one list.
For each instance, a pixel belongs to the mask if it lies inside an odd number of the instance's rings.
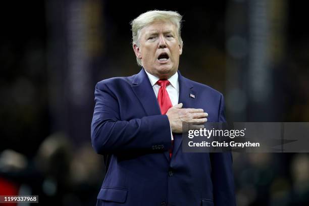
[[[178,12],[173,11],[148,11],[141,15],[139,15],[137,18],[135,18],[131,22],[132,26],[132,45],[136,44],[139,46],[139,35],[140,30],[144,28],[145,26],[148,26],[149,24],[155,22],[155,21],[168,21],[173,23],[177,30],[178,30],[178,40],[179,44],[183,45],[183,41],[181,39],[180,30],[181,30],[181,19],[182,16]],[[141,60],[136,58],[137,64],[139,66],[142,66]]]

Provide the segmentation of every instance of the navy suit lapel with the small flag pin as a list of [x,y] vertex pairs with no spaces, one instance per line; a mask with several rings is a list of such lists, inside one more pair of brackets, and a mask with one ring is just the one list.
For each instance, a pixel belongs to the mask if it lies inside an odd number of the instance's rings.
[[[193,90],[193,85],[189,82],[188,79],[181,76],[178,71],[178,81],[179,81],[179,100],[178,103],[182,103],[182,108],[194,108],[196,92]],[[193,94],[194,98],[190,96]],[[182,143],[182,134],[174,134],[174,148],[173,156],[175,157],[176,152],[180,148]]]

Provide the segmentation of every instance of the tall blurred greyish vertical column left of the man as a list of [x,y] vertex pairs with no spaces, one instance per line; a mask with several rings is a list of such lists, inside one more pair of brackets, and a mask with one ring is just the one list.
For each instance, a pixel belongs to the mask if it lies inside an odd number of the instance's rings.
[[91,120],[94,75],[101,69],[102,7],[99,0],[46,3],[52,131],[67,132],[77,145],[89,141],[90,126],[84,124]]

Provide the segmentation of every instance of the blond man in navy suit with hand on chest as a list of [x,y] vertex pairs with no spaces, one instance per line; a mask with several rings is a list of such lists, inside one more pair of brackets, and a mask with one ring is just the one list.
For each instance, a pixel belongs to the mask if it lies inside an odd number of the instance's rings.
[[183,122],[226,121],[223,95],[178,71],[181,18],[149,11],[134,19],[141,71],[96,84],[91,141],[106,164],[97,205],[236,205],[231,153],[181,149]]

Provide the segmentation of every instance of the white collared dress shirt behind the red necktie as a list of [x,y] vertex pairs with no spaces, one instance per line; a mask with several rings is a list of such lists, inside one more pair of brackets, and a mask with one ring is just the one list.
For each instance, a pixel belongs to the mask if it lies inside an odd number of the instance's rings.
[[[156,83],[159,80],[159,78],[156,77],[156,76],[153,76],[152,74],[149,74],[146,70],[145,70],[145,72],[146,72],[146,74],[149,78],[152,89],[155,92],[156,97],[158,99],[158,93],[159,93],[160,86]],[[175,106],[175,105],[178,105],[178,98],[179,98],[178,73],[176,72],[168,80],[169,80],[170,84],[166,87],[166,90],[167,90],[167,92],[170,96],[172,105]],[[173,134],[172,134],[172,129],[171,129],[171,138],[172,138],[172,140],[174,139]]]

